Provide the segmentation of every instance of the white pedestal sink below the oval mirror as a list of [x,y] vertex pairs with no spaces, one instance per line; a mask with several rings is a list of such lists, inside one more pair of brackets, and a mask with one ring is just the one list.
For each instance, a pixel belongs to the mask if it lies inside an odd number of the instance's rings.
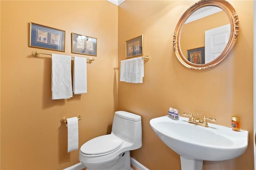
[[208,123],[202,127],[188,123],[188,118],[179,120],[168,116],[150,120],[156,135],[180,155],[182,170],[202,170],[203,160],[229,160],[242,155],[248,146],[248,131],[232,131]]

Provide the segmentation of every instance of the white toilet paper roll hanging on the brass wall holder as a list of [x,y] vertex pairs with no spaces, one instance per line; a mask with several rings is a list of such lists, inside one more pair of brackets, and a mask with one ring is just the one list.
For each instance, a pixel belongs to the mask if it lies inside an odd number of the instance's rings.
[[67,118],[68,127],[68,152],[78,150],[78,119],[77,117]]

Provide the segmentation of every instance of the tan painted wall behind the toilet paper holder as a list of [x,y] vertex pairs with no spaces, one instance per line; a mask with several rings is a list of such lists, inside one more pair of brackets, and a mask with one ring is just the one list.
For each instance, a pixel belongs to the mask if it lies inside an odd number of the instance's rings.
[[[66,52],[28,47],[29,23],[66,31]],[[67,153],[62,117],[80,114],[79,147],[110,133],[117,109],[118,6],[106,1],[1,1],[1,169],[64,169],[79,162]],[[51,59],[32,51],[71,53],[71,33],[98,39],[87,65],[88,93],[51,100]],[[76,55],[80,57],[91,57]]]

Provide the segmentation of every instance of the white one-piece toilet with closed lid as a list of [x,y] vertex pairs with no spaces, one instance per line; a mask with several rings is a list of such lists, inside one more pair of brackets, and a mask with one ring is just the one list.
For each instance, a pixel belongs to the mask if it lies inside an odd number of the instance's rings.
[[84,143],[79,151],[79,160],[86,170],[132,170],[130,150],[141,146],[140,115],[116,111],[111,134]]

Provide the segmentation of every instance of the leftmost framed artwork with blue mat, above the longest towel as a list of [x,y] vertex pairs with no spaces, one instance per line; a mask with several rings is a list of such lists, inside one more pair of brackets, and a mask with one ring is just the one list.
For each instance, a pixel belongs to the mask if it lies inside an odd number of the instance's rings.
[[66,31],[30,22],[30,47],[65,52]]

